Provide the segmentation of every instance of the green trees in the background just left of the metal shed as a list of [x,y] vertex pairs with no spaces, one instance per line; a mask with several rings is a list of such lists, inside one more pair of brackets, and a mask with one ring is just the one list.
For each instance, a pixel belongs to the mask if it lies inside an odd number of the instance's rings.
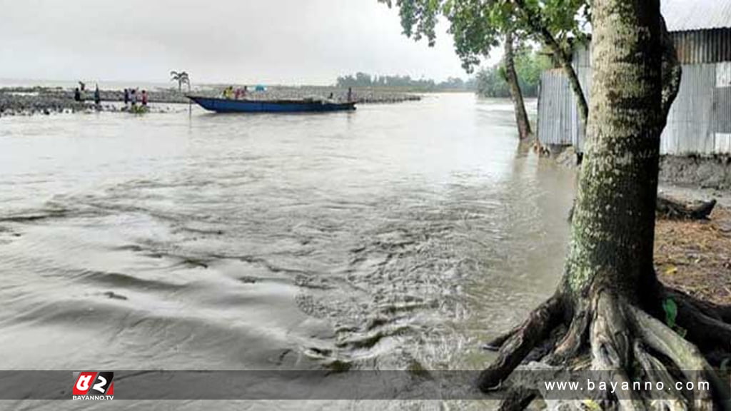
[[[552,67],[550,58],[531,48],[523,48],[515,55],[515,71],[525,97],[538,97],[541,72]],[[510,86],[505,80],[502,63],[484,67],[477,72],[477,94],[484,97],[510,97]]]

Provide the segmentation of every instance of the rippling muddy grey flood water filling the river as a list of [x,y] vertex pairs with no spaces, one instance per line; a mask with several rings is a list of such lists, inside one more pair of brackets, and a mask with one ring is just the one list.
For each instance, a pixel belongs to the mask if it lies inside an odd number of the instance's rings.
[[1,369],[481,369],[556,287],[573,173],[508,101],[183,107],[0,118]]

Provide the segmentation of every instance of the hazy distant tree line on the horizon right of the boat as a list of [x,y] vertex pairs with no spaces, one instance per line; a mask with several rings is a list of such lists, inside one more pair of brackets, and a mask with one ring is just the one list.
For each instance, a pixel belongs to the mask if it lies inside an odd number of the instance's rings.
[[463,80],[450,77],[446,81],[437,83],[431,79],[414,79],[408,75],[370,75],[357,72],[355,75],[338,77],[338,87],[382,87],[402,88],[414,91],[475,91],[477,83],[474,78]]

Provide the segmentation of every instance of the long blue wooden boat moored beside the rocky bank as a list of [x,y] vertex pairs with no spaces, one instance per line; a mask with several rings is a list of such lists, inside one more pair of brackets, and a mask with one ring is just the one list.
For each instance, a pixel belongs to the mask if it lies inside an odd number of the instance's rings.
[[355,102],[329,102],[317,99],[236,100],[187,96],[200,107],[216,113],[311,113],[355,110]]

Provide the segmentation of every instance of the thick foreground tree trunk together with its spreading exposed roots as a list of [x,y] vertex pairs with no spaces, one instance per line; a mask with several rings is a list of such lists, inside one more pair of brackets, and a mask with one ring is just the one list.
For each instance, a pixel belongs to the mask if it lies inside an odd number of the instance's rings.
[[[596,393],[602,409],[656,409],[652,401],[667,399],[674,407],[729,410],[728,387],[706,358],[731,353],[730,309],[668,290],[654,273],[660,134],[675,96],[663,84],[671,73],[679,78],[673,61],[661,63],[668,43],[659,0],[594,0],[593,12],[591,110],[564,277],[523,324],[488,344],[499,353],[478,386],[491,390],[537,358],[542,363],[526,367],[602,370],[607,383],[711,383],[711,391],[689,395]],[[545,396],[527,384],[508,393],[504,409]]]

